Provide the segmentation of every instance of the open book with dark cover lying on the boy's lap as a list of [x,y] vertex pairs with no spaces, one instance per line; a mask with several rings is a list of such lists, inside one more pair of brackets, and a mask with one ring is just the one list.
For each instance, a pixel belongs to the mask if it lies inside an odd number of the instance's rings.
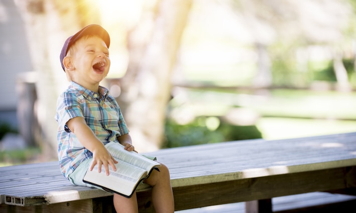
[[83,182],[100,186],[104,190],[125,197],[131,197],[140,182],[147,178],[153,169],[158,170],[157,167],[161,165],[134,151],[125,150],[124,146],[117,142],[110,142],[105,147],[118,162],[115,164],[116,171],[109,166],[109,175],[106,175],[103,167],[99,173],[98,166],[95,165],[92,171],[88,168]]

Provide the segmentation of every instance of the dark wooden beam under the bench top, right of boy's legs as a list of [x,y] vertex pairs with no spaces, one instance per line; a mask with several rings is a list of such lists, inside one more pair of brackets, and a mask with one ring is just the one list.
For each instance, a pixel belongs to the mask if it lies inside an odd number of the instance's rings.
[[[173,188],[175,210],[347,188],[345,168]],[[356,178],[356,173],[354,174]],[[147,194],[138,193],[139,199]]]

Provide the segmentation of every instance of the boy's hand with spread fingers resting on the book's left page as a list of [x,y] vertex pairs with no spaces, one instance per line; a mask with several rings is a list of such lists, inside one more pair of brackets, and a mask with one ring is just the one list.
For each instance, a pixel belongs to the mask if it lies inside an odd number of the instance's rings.
[[109,166],[116,171],[115,163],[118,162],[111,156],[105,147],[98,147],[93,150],[93,161],[90,166],[90,171],[92,171],[94,166],[97,164],[99,173],[101,172],[101,166],[104,166],[106,175],[109,175]]

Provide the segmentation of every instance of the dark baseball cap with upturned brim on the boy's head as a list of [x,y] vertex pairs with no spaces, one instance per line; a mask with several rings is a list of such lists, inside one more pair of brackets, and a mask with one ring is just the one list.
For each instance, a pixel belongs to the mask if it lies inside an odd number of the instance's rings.
[[61,54],[60,54],[60,60],[61,60],[61,65],[62,65],[63,70],[65,70],[64,65],[63,65],[63,59],[67,55],[69,48],[76,41],[78,41],[81,37],[83,37],[85,35],[99,36],[105,42],[107,48],[109,48],[109,46],[110,46],[110,36],[106,32],[106,30],[104,28],[102,28],[100,25],[93,24],[93,25],[88,25],[88,26],[84,27],[83,29],[78,31],[73,36],[70,36],[69,38],[67,38],[67,40],[64,42],[64,45],[62,47]]

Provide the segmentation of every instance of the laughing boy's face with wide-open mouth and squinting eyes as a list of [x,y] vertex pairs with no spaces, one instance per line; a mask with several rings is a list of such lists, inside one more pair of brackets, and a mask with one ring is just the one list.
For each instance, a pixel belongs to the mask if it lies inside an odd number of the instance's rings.
[[109,72],[109,50],[97,36],[79,39],[71,47],[70,58],[72,80],[88,89],[97,89],[99,82]]

